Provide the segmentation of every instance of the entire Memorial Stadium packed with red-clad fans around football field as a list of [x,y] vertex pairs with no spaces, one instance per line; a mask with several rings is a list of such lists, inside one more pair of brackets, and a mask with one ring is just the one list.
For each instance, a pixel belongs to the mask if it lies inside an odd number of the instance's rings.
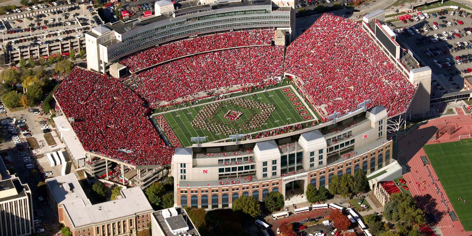
[[[303,194],[335,174],[401,170],[388,134],[429,110],[431,70],[402,63],[383,11],[361,23],[323,14],[295,39],[293,9],[277,4],[287,3],[242,7],[285,11],[280,27],[215,26],[139,47],[124,47],[122,35],[147,38],[151,28],[87,33],[88,70],[75,68],[54,93],[58,132],[85,153],[71,155],[75,165],[142,188],[172,175],[175,205],[209,209],[241,195]],[[108,60],[118,46],[127,52]]]

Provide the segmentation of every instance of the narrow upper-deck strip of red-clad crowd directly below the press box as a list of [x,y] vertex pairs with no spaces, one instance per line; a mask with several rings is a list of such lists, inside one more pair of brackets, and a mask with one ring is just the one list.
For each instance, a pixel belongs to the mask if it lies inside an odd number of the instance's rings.
[[131,72],[166,62],[175,58],[230,47],[270,45],[274,30],[232,31],[189,38],[182,41],[154,47],[130,56],[122,64]]

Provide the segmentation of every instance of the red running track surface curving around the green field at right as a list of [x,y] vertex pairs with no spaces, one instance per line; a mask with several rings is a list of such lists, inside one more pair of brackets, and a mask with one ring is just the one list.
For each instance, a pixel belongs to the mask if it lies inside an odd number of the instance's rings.
[[[472,117],[463,115],[464,112],[462,110],[457,111],[461,115],[431,120],[421,125],[417,130],[398,142],[398,146],[401,150],[399,160],[402,164],[407,162],[408,166],[411,168],[410,172],[403,175],[408,182],[409,190],[412,196],[417,199],[419,206],[424,212],[434,215],[437,226],[441,229],[443,236],[469,236],[472,235],[472,231],[464,232],[460,221],[452,221],[451,217],[446,212],[446,207],[441,203],[441,198],[433,185],[431,185],[428,171],[421,161],[421,156],[426,156],[422,146],[438,142],[455,142],[458,141],[459,135],[470,134],[472,131]],[[448,127],[455,127],[455,132],[452,135],[445,133],[440,136],[438,140],[431,139],[436,130],[447,130]],[[428,166],[433,178],[438,179],[432,166]],[[424,185],[422,184],[423,181],[425,181]],[[416,182],[420,183],[420,185],[418,186]],[[444,193],[441,182],[437,181],[437,183],[439,191]],[[448,197],[445,195],[444,198],[449,208],[454,211],[454,208],[449,203]]]

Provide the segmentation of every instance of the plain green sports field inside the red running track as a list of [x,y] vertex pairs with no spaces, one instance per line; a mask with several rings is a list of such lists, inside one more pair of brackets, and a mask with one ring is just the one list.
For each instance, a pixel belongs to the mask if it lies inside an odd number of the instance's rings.
[[[426,145],[423,149],[446,190],[455,214],[464,226],[465,231],[472,230],[471,139]],[[458,198],[471,203],[464,204],[462,201],[458,201]]]

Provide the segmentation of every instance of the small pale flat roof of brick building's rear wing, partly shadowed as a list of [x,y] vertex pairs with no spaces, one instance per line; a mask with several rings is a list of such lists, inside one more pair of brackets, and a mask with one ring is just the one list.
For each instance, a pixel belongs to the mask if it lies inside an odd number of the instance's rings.
[[92,205],[73,173],[47,179],[46,184],[51,189],[58,205],[77,200],[83,201],[85,206]]

